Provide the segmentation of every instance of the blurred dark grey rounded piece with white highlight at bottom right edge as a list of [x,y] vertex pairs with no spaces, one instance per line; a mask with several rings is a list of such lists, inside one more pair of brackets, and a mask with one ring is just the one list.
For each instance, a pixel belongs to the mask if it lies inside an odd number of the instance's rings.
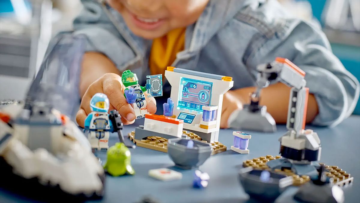
[[315,185],[309,182],[300,187],[294,199],[309,203],[343,203],[344,192],[337,185]]

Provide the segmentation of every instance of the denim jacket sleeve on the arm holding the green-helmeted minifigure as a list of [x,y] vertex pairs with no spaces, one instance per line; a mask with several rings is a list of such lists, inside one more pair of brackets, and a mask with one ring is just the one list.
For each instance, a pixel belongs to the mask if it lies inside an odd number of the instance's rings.
[[[74,34],[86,35],[86,51],[103,53],[118,68],[123,61],[133,59],[135,54],[104,12],[103,6],[96,0],[81,0],[81,2],[83,9],[73,21],[73,28]],[[116,13],[114,16],[120,17],[120,14]]]

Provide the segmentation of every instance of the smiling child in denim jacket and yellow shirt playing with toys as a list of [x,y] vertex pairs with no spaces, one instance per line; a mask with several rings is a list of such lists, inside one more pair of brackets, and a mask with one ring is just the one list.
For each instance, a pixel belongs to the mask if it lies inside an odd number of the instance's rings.
[[[126,69],[138,71],[139,79],[164,73],[167,66],[233,77],[233,90],[224,95],[222,128],[229,126],[232,112],[249,103],[256,66],[275,57],[287,58],[306,72],[311,93],[307,122],[337,125],[352,113],[359,97],[359,82],[333,55],[320,27],[293,18],[276,0],[82,3],[84,10],[74,21],[75,34],[88,40],[76,117],[80,126],[97,92],[108,96],[124,124],[134,122],[121,83]],[[262,91],[261,105],[278,123],[286,122],[289,90],[277,83]],[[153,98],[148,111],[156,111]]]

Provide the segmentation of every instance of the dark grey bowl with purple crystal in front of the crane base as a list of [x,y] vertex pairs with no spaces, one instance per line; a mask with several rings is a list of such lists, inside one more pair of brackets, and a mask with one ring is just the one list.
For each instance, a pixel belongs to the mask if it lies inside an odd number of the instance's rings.
[[269,171],[269,181],[261,181],[260,176],[263,170],[254,170],[252,167],[243,168],[239,172],[239,181],[247,194],[256,199],[275,200],[288,186],[293,183],[291,176]]

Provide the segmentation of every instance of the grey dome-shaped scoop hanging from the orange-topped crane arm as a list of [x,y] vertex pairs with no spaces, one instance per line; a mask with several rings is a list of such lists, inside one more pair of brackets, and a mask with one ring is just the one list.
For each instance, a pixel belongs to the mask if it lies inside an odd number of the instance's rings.
[[261,132],[275,132],[276,123],[274,118],[266,112],[266,106],[262,106],[259,111],[252,112],[249,105],[233,114],[236,117],[230,119],[230,128],[240,130],[253,130]]

